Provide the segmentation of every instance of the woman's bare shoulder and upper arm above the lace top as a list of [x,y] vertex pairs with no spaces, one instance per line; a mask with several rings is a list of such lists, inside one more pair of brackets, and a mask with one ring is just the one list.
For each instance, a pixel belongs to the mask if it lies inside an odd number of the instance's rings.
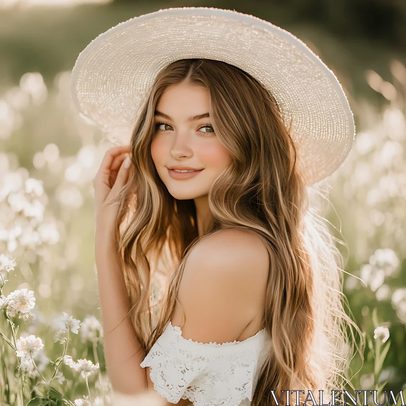
[[[186,316],[183,337],[237,340],[262,311],[268,268],[267,249],[255,233],[226,229],[200,240],[186,259],[178,290]],[[181,324],[179,312],[173,321]]]

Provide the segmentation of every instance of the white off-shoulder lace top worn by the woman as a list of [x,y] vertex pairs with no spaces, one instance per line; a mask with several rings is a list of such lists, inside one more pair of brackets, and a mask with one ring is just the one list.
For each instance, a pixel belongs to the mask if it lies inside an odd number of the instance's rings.
[[155,390],[171,403],[249,406],[265,361],[265,329],[244,341],[198,343],[169,322],[140,364],[150,367]]

